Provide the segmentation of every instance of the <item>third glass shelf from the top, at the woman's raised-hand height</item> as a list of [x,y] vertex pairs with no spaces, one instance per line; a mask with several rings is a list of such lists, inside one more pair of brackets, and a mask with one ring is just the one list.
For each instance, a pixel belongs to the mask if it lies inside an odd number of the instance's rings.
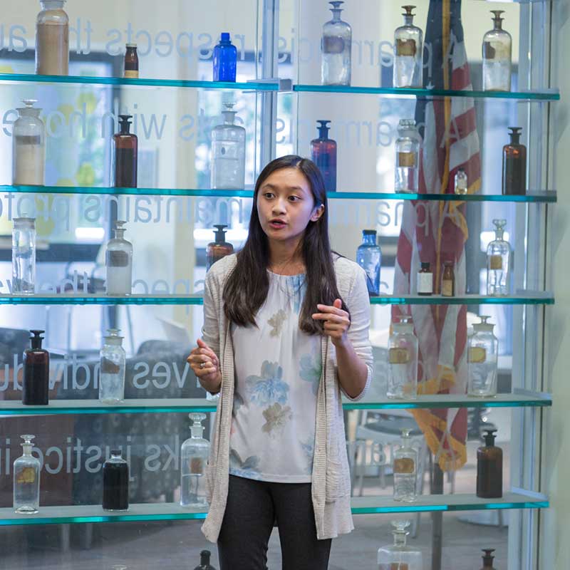
[[[381,295],[371,297],[373,305],[554,305],[549,292],[527,291],[526,294],[504,297],[464,295],[442,297],[440,295]],[[0,305],[202,305],[202,295],[138,295],[106,296],[75,294],[0,295]]]

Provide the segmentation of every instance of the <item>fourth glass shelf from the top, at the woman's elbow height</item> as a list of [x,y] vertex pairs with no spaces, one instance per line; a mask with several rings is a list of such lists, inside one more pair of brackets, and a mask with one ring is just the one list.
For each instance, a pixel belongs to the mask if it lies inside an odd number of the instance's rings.
[[[343,401],[345,410],[410,410],[413,408],[527,408],[552,405],[551,395],[542,393],[498,394],[494,398],[467,395],[423,395],[417,400],[363,398]],[[217,400],[206,398],[136,398],[117,405],[99,400],[51,400],[48,405],[24,405],[19,400],[0,400],[1,415],[82,415],[131,413],[215,412]]]

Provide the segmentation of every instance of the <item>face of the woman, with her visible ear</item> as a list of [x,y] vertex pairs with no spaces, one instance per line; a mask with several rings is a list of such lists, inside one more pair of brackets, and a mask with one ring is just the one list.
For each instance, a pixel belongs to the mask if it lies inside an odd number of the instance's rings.
[[257,214],[269,241],[298,242],[323,211],[323,205],[316,207],[309,181],[298,168],[272,172],[257,193]]

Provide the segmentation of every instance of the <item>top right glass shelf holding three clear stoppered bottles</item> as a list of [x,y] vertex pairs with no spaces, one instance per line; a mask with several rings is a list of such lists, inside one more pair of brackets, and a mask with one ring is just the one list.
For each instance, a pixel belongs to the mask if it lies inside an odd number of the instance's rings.
[[395,87],[358,87],[336,85],[294,85],[297,93],[351,93],[353,95],[396,95],[397,97],[472,97],[475,99],[512,99],[519,101],[558,101],[557,89],[542,91],[456,91],[452,89],[408,89]]

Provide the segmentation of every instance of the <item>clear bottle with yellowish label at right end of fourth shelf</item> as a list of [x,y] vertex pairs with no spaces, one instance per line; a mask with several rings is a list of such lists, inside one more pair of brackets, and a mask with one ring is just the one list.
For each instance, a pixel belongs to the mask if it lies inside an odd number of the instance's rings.
[[475,331],[467,341],[470,396],[489,398],[497,394],[497,360],[499,341],[493,334],[494,324],[489,316],[480,315],[481,322],[473,325]]

